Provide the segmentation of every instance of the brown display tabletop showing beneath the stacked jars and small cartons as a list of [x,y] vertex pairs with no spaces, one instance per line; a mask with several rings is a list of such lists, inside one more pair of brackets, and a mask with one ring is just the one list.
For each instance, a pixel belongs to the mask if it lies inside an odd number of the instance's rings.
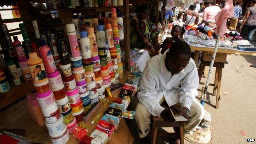
[[[119,82],[124,84],[130,72],[125,72],[123,79]],[[113,96],[118,96],[114,95]],[[48,131],[46,126],[38,126],[37,123],[30,117],[29,112],[27,111],[27,102],[26,99],[19,101],[17,104],[13,105],[9,109],[1,112],[1,130],[14,130],[19,129],[18,131],[23,132],[23,137],[28,141],[41,144],[51,144]],[[97,123],[91,125],[93,117],[98,113],[104,113],[108,106],[100,104],[98,110],[93,114],[89,121],[85,124],[88,130],[88,135],[90,135]],[[108,140],[109,144],[133,144],[134,137],[130,132],[126,122],[122,118],[117,130],[114,131],[114,134],[111,136],[111,139]],[[66,144],[78,144],[79,141],[73,137],[73,134],[70,134],[69,142]]]

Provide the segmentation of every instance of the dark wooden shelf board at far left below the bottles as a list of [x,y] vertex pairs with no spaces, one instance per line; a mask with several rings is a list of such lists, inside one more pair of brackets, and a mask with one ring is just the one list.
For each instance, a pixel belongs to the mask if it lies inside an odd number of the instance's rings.
[[[10,82],[11,85],[11,82]],[[23,96],[26,96],[26,94],[32,92],[35,90],[35,87],[33,85],[33,81],[23,81],[21,85],[11,85],[10,91],[7,91],[4,94],[1,94],[0,96],[0,109],[10,105],[11,103],[14,103],[15,101],[19,100]]]

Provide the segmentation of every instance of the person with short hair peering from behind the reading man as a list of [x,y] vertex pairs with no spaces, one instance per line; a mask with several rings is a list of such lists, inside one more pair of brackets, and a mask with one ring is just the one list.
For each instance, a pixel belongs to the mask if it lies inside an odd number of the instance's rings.
[[171,48],[171,45],[174,41],[177,41],[178,39],[180,39],[181,26],[174,25],[174,27],[171,29],[171,37],[172,38],[165,39],[164,42],[160,45],[160,48],[162,48],[161,54],[165,53],[166,50]]

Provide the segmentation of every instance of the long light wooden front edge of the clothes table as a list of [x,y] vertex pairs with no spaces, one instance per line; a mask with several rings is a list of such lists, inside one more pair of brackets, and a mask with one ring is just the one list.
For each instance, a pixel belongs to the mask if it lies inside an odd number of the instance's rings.
[[[213,52],[214,48],[206,48],[206,47],[197,47],[197,46],[190,46],[191,50],[197,51],[206,51],[206,52]],[[253,55],[256,56],[256,52],[249,52],[249,51],[238,51],[226,48],[218,48],[217,53],[227,53],[233,55]]]

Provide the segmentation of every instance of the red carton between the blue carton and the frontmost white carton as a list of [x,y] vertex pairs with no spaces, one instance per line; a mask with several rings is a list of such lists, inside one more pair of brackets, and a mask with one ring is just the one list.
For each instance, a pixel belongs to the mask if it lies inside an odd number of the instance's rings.
[[115,130],[115,127],[112,123],[108,123],[107,121],[101,120],[95,127],[96,130],[100,130],[103,133],[106,133],[108,137],[112,135]]

